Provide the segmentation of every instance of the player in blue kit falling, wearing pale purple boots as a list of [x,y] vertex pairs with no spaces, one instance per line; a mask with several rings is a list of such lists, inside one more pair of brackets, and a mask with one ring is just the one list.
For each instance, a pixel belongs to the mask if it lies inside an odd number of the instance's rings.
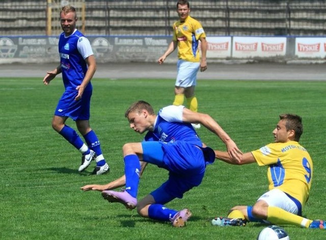
[[[110,202],[121,202],[127,209],[137,207],[142,217],[171,221],[173,226],[183,227],[192,213],[188,209],[179,212],[168,209],[164,204],[182,198],[185,192],[199,186],[206,164],[215,158],[214,151],[203,145],[192,123],[200,123],[218,135],[233,159],[240,160],[240,150],[209,115],[184,106],[168,106],[155,115],[151,105],[137,101],[129,107],[125,117],[135,132],[147,131],[143,142],[123,146],[125,175],[105,185],[86,185],[81,189],[102,191],[102,196]],[[169,179],[138,202],[139,178],[148,163],[167,169]],[[110,190],[124,185],[122,192]]]

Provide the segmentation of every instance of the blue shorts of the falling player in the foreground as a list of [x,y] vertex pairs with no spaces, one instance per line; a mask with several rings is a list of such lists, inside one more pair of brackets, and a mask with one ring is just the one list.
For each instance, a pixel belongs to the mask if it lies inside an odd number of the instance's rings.
[[155,202],[165,204],[201,184],[205,160],[201,148],[187,142],[143,142],[143,161],[169,170],[169,179],[151,192]]

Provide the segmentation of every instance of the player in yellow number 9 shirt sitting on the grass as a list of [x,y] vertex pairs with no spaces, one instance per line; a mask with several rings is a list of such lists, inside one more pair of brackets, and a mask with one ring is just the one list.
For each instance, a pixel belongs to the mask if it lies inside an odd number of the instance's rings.
[[268,166],[268,192],[253,206],[240,205],[230,210],[228,218],[215,218],[213,225],[243,226],[247,221],[271,224],[292,224],[306,228],[326,227],[322,220],[302,217],[313,176],[313,163],[307,150],[298,141],[303,133],[302,119],[294,114],[280,115],[273,131],[275,142],[256,151],[244,153],[240,162],[228,153],[215,151],[215,157],[230,164],[257,162]]

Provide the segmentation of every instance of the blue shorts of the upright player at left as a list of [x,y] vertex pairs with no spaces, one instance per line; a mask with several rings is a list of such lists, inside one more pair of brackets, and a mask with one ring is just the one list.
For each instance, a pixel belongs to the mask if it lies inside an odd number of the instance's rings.
[[56,116],[69,117],[76,120],[90,119],[92,91],[84,91],[82,99],[75,101],[77,91],[65,91],[57,105]]

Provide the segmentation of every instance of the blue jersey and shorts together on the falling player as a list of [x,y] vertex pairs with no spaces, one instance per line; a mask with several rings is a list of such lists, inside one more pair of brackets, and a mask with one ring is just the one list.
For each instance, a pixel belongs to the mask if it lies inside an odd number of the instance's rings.
[[191,123],[182,121],[184,106],[162,108],[154,130],[147,132],[143,160],[169,170],[169,179],[150,194],[156,203],[165,204],[198,186],[206,164],[214,162],[215,153],[203,144]]

